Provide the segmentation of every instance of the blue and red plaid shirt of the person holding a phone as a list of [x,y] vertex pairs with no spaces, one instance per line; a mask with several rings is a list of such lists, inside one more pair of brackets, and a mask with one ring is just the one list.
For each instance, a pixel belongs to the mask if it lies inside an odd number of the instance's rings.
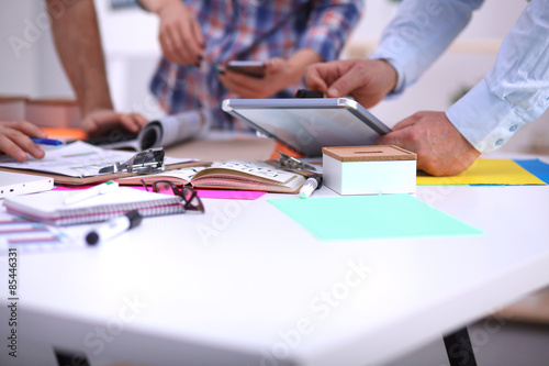
[[[184,0],[201,24],[205,58],[201,67],[180,66],[163,58],[150,84],[160,106],[170,114],[209,108],[214,129],[245,130],[220,106],[236,95],[226,90],[215,65],[232,59],[289,58],[300,48],[333,60],[344,46],[361,10],[361,0]],[[291,98],[303,81],[279,92]]]

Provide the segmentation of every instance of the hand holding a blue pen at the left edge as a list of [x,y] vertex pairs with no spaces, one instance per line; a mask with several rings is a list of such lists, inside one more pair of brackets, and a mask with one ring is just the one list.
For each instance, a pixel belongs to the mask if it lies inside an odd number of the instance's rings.
[[0,122],[0,152],[20,162],[26,160],[29,154],[37,159],[43,158],[44,151],[30,137],[46,138],[47,134],[31,122]]

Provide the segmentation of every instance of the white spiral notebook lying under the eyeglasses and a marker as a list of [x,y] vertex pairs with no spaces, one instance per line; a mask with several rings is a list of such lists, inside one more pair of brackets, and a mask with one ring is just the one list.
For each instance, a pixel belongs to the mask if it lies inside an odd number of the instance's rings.
[[147,192],[128,187],[94,196],[80,202],[65,204],[72,191],[47,192],[8,197],[3,204],[8,213],[38,220],[55,225],[71,225],[109,220],[137,210],[143,217],[184,212],[179,196]]

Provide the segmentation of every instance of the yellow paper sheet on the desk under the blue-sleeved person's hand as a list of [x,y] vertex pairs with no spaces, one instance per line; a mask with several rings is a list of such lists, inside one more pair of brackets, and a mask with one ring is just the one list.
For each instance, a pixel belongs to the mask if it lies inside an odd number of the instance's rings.
[[477,159],[466,171],[453,177],[417,175],[418,186],[450,185],[546,185],[511,159]]

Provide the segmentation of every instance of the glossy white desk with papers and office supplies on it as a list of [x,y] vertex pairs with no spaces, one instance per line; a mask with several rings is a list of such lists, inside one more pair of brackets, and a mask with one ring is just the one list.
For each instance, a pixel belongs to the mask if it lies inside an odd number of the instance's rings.
[[52,345],[91,365],[379,365],[549,285],[548,186],[417,197],[485,235],[321,242],[266,198],[209,199],[97,248],[20,254],[15,365],[55,365]]

